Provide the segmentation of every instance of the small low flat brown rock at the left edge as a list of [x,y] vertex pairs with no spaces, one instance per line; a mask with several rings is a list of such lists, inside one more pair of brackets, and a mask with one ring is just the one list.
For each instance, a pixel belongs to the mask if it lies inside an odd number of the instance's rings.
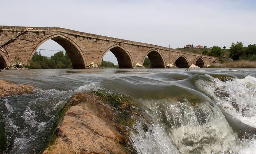
[[38,89],[30,84],[16,84],[6,80],[0,80],[0,97],[32,94]]

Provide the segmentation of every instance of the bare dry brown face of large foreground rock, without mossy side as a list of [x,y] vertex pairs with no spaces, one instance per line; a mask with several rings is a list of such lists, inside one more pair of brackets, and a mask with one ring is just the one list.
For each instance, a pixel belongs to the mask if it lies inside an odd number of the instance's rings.
[[89,92],[75,94],[69,103],[77,105],[65,113],[55,142],[43,153],[128,153],[124,136],[110,121],[111,107]]

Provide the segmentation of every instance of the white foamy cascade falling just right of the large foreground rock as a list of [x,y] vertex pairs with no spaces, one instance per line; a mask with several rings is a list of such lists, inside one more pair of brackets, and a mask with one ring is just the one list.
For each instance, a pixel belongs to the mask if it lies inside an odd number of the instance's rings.
[[[237,135],[224,115],[208,102],[146,100],[154,116],[181,153],[220,153],[236,147]],[[216,125],[218,124],[218,125]]]

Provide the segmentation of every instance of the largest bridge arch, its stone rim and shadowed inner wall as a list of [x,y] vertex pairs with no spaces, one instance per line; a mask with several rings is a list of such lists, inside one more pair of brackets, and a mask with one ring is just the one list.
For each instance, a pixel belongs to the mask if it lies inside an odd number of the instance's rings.
[[68,53],[68,56],[70,57],[73,69],[85,69],[85,66],[87,64],[86,64],[86,59],[84,57],[82,50],[78,47],[78,45],[73,40],[71,40],[65,35],[62,35],[61,33],[53,34],[43,38],[30,51],[28,55],[28,59],[31,61],[34,53],[36,52],[36,49],[40,45],[42,45],[45,41],[50,39],[60,44],[60,46],[66,50],[66,52]]

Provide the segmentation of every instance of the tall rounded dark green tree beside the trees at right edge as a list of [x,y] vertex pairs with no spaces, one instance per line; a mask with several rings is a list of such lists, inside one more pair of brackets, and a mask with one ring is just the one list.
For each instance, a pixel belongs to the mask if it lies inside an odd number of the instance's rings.
[[233,60],[239,60],[239,57],[243,55],[243,43],[242,42],[236,42],[231,44],[230,50],[229,50],[229,57],[231,57]]

